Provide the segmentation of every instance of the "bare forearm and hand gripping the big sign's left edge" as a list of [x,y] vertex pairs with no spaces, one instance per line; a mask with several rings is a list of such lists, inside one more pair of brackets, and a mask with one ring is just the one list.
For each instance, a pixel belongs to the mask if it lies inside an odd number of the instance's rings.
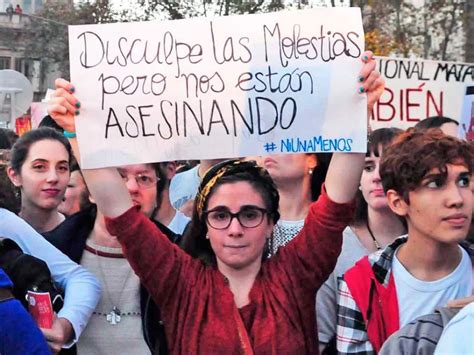
[[[75,132],[74,118],[79,114],[80,103],[74,97],[74,86],[64,80],[56,79],[54,97],[48,102],[48,113],[65,131]],[[69,138],[74,155],[80,160],[76,138]],[[117,217],[132,207],[132,199],[117,169],[102,168],[81,170],[87,188],[94,196],[98,209],[106,217]]]

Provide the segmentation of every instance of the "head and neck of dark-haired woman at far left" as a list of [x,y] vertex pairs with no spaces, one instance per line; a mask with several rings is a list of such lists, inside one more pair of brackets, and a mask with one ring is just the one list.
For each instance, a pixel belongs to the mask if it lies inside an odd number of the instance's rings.
[[51,128],[24,134],[12,148],[8,176],[21,192],[20,217],[39,233],[56,228],[64,215],[58,206],[69,183],[71,147]]

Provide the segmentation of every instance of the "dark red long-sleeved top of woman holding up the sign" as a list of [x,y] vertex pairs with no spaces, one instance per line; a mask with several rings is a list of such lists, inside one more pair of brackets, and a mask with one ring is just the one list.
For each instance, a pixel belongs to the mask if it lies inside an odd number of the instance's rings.
[[263,262],[240,309],[216,268],[170,243],[137,208],[107,228],[160,306],[171,353],[317,354],[315,294],[334,269],[352,211],[323,192],[300,234]]

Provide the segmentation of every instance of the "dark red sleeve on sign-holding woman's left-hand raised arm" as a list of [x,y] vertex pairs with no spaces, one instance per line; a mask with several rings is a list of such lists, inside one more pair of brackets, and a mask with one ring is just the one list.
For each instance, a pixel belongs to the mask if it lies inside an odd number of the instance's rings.
[[106,218],[107,230],[117,237],[141,282],[158,305],[176,298],[194,279],[201,265],[168,238],[137,207]]

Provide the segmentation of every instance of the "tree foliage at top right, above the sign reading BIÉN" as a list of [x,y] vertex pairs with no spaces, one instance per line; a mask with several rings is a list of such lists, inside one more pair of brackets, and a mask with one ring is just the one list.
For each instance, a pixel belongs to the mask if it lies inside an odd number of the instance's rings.
[[[404,0],[359,0],[364,17],[366,46],[400,57],[460,60],[466,0],[431,0],[415,6]],[[471,42],[472,43],[472,42]]]

